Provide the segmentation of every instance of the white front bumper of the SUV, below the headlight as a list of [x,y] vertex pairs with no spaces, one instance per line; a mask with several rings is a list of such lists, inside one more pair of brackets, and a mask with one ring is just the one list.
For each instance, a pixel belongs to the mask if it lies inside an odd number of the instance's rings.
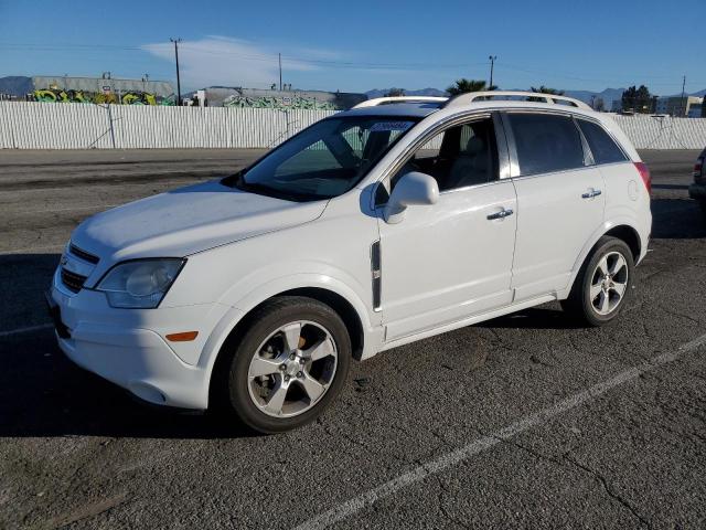
[[[103,293],[62,288],[58,274],[46,294],[62,351],[79,367],[158,405],[204,410],[210,372],[199,363],[210,331],[227,308],[116,309]],[[199,330],[197,340],[171,346],[170,332]]]

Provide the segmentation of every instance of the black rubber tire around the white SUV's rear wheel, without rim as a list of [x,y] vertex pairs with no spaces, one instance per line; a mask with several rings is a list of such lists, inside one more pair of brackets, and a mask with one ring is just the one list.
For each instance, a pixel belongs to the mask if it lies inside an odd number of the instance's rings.
[[[598,299],[591,299],[591,284],[595,284],[595,273],[599,262],[603,256],[613,256],[619,253],[623,256],[627,267],[625,288],[622,297],[616,303],[613,309],[607,315],[601,315],[595,304],[599,304]],[[630,298],[632,292],[632,282],[634,278],[634,258],[630,247],[617,237],[603,236],[598,240],[596,246],[588,255],[584,265],[578,272],[569,297],[561,300],[561,308],[578,321],[588,324],[589,326],[605,326],[611,322],[625,307],[625,303]],[[613,293],[612,296],[614,296]]]

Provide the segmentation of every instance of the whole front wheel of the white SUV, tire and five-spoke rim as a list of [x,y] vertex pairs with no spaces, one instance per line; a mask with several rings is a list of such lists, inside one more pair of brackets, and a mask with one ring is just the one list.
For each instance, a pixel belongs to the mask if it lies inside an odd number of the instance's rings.
[[288,296],[263,305],[249,325],[229,353],[233,412],[265,434],[314,420],[343,388],[351,363],[341,317],[318,300]]

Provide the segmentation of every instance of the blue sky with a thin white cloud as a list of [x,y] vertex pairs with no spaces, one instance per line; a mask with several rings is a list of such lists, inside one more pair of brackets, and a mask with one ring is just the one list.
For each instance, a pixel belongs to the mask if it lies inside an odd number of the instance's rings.
[[[365,92],[501,88],[653,94],[706,88],[705,0],[374,2],[0,0],[0,76],[69,75],[211,86]],[[133,3],[135,8],[130,6]]]

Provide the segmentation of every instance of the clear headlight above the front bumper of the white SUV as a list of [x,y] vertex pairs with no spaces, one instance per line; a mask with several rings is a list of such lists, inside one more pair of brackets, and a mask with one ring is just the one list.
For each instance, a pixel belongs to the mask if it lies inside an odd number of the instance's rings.
[[138,259],[125,262],[106,274],[96,290],[111,307],[152,309],[162,301],[184,259]]

